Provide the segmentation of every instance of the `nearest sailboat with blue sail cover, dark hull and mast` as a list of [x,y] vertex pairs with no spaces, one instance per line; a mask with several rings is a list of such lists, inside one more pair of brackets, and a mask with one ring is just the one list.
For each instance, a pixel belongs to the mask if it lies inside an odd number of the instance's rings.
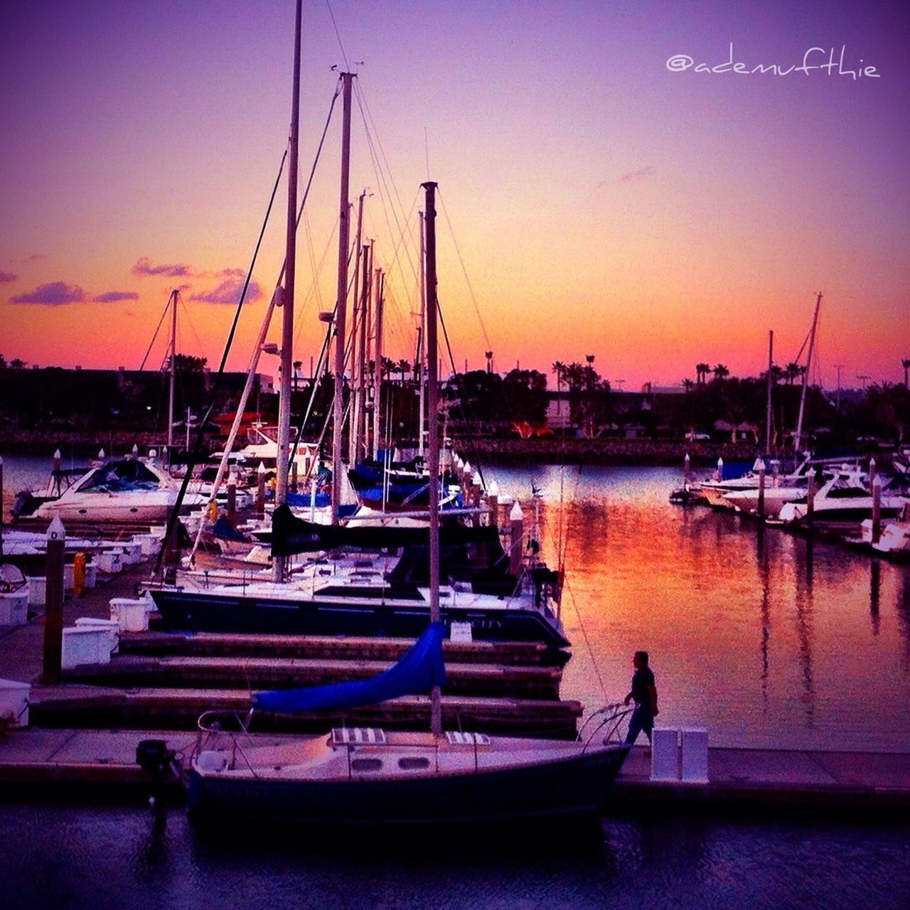
[[[437,478],[436,184],[423,187],[430,303],[427,454],[430,477]],[[583,742],[443,733],[439,538],[439,487],[431,483],[430,623],[397,664],[365,682],[253,697],[253,710],[292,711],[350,707],[429,689],[430,731],[341,727],[328,735],[259,746],[246,735],[225,742],[219,728],[200,719],[200,729],[216,741],[200,742],[191,759],[187,806],[192,817],[320,825],[450,824],[600,810],[629,752],[628,745],[603,737],[604,723],[615,716],[609,712]]]

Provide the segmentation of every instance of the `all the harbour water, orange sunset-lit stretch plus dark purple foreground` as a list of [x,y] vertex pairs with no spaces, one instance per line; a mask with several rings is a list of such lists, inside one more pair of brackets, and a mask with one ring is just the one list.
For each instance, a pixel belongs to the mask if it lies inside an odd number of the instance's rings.
[[[5,469],[9,491],[45,462]],[[646,648],[662,722],[706,726],[713,743],[910,749],[907,568],[672,507],[674,470],[487,475],[521,501],[531,480],[545,493],[544,551],[564,548],[568,567],[567,697],[622,697]],[[910,824],[684,814],[483,834],[213,839],[180,809],[0,804],[2,905],[896,910],[910,891]]]

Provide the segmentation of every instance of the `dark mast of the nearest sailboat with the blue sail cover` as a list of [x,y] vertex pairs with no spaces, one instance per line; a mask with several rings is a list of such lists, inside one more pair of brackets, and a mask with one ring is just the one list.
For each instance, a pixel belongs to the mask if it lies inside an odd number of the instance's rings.
[[[439,307],[436,298],[436,184],[421,184],[427,204],[424,209],[427,258],[427,407],[430,411],[430,433],[427,440],[427,468],[430,491],[430,622],[440,622],[440,389],[436,352]],[[434,685],[430,691],[430,729],[442,733],[442,695]]]

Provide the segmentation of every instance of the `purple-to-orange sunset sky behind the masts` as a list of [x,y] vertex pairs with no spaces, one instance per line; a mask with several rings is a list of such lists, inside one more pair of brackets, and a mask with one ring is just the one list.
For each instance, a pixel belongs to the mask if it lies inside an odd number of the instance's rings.
[[[287,146],[293,19],[293,0],[0,4],[5,359],[137,369],[151,345],[158,369],[179,288],[177,347],[217,364]],[[908,39],[905,3],[313,0],[300,185],[355,71],[349,197],[371,194],[394,359],[414,346],[430,178],[458,369],[492,350],[501,371],[593,355],[624,389],[702,361],[757,375],[769,330],[775,362],[796,359],[822,292],[813,379],[899,381]],[[335,298],[340,114],[298,233],[305,365]],[[278,278],[286,193],[231,369]]]

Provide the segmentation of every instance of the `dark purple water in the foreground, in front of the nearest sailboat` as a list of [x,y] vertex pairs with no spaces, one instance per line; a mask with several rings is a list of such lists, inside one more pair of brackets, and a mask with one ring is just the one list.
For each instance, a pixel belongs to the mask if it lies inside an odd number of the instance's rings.
[[897,910],[910,889],[908,833],[662,817],[514,841],[471,832],[301,842],[242,830],[213,838],[176,809],[14,804],[0,805],[0,880],[10,910]]

